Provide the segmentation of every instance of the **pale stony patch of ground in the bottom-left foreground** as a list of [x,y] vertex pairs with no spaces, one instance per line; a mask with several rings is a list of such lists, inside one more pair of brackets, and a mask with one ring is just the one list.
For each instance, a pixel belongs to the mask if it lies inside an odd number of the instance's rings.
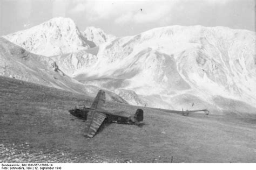
[[[29,143],[12,144],[9,146],[0,144],[0,163],[2,162],[49,162],[49,163],[132,163],[132,160],[103,158],[99,155],[73,154],[63,150],[42,150],[31,152],[33,148]],[[136,161],[134,161],[136,162]]]

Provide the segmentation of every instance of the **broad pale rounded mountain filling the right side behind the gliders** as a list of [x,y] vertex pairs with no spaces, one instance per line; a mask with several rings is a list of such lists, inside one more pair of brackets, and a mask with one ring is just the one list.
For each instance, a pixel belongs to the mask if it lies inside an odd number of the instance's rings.
[[[212,107],[214,98],[256,104],[254,32],[169,26],[100,46],[97,62],[77,70],[83,83],[158,96],[178,108]],[[91,82],[91,83],[90,83]],[[191,96],[191,97],[188,97]],[[172,104],[171,104],[172,103]],[[194,103],[194,104],[193,104]],[[159,105],[161,107],[161,105]]]

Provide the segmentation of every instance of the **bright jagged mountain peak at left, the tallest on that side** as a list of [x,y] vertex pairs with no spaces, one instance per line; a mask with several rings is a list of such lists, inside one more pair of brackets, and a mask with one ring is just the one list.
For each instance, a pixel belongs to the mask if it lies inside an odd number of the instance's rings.
[[52,56],[77,52],[89,45],[70,18],[52,18],[28,30],[4,36],[26,50],[40,55]]

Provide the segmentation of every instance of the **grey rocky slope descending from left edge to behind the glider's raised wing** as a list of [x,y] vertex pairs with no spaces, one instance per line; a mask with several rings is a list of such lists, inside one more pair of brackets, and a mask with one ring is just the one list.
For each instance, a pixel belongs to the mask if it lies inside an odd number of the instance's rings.
[[[0,76],[11,77],[44,86],[95,96],[98,87],[85,86],[66,75],[52,59],[36,55],[0,37]],[[106,91],[110,101],[127,103],[118,95]]]

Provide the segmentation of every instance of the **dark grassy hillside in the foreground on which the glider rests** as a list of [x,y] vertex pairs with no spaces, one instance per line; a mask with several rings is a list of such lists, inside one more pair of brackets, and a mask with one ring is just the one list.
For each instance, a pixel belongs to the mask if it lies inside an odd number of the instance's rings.
[[[69,114],[93,98],[0,76],[1,162],[256,162],[256,117],[143,108],[142,128],[104,124],[92,139]],[[106,110],[138,107],[106,102]]]

